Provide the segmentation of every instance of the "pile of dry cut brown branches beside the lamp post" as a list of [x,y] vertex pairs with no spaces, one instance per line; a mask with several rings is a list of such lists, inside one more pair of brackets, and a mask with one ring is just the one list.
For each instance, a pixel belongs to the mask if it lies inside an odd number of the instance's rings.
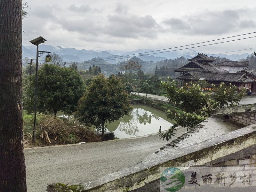
[[47,144],[72,144],[78,142],[97,142],[100,137],[92,130],[71,124],[59,117],[45,116],[39,124],[40,139]]

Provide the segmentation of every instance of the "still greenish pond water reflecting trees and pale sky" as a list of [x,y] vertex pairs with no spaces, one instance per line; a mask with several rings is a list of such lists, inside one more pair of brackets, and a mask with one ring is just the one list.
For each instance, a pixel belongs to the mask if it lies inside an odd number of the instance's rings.
[[118,138],[128,138],[156,133],[160,126],[162,130],[166,130],[171,125],[164,112],[147,105],[136,104],[133,105],[130,115],[108,124],[107,128],[108,131],[115,132]]

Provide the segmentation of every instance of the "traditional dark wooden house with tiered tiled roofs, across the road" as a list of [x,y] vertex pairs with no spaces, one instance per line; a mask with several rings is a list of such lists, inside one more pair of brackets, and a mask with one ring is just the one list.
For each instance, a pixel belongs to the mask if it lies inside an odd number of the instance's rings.
[[214,64],[212,62],[216,60],[200,53],[189,61],[188,64],[175,70],[181,74],[176,78],[183,85],[191,81],[206,80],[211,84],[231,83],[236,85],[238,90],[245,87],[256,92],[256,73],[253,71],[255,73],[255,78],[253,78],[252,70],[247,69],[248,61],[224,61]]

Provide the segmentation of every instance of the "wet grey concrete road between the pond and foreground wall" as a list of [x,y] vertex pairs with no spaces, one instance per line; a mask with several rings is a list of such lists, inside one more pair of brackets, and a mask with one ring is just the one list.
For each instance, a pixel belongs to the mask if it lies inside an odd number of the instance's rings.
[[[186,132],[177,129],[176,136]],[[170,141],[169,141],[170,142]],[[167,143],[159,135],[25,149],[28,192],[43,192],[47,184],[79,184],[140,162]]]

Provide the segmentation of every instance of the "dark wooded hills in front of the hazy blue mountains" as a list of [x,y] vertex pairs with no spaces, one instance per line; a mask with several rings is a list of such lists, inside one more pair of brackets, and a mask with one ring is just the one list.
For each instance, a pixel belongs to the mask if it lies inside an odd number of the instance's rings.
[[[118,76],[122,76],[122,70],[123,70],[122,66],[127,64],[129,61],[140,63],[143,76],[149,75],[149,74],[152,74],[152,75],[154,74],[159,77],[177,76],[174,70],[176,68],[182,67],[183,65],[189,62],[188,58],[185,58],[184,56],[182,56],[182,57],[177,57],[175,59],[166,59],[166,60],[157,61],[157,62],[144,61],[138,57],[132,57],[128,60],[124,60],[121,62],[118,61],[116,64],[111,64],[100,57],[99,58],[95,57],[95,58],[92,58],[91,60],[87,60],[81,63],[77,63],[77,62],[67,63],[66,61],[63,62],[63,59],[61,59],[61,57],[58,55],[53,54],[52,56],[55,58],[54,61],[58,61],[58,62],[52,62],[51,64],[62,66],[62,67],[74,68],[76,71],[79,71],[80,75],[84,79],[92,78],[93,76],[98,75],[100,73],[104,74],[105,76],[110,76],[111,74],[117,74]],[[215,62],[213,62],[215,64],[221,63],[223,61],[231,61],[226,57],[220,57],[220,56],[217,56],[217,57],[210,56],[210,58],[216,60]],[[241,59],[239,61],[249,61],[249,68],[256,69],[256,56],[253,53],[249,54],[245,59]],[[100,72],[98,72],[99,68],[100,68]],[[30,65],[27,65],[25,67],[25,70],[26,70],[26,73],[29,74]],[[35,65],[32,65],[31,71],[32,71],[32,74],[35,72]]]

